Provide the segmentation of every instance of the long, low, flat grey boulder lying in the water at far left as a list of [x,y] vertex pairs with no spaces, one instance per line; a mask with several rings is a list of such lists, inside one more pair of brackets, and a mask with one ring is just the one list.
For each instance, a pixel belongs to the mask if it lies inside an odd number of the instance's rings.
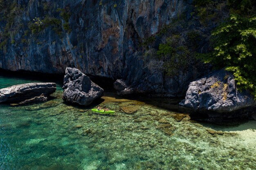
[[[39,96],[49,96],[56,91],[55,83],[27,83],[0,89],[0,102],[23,102]],[[27,101],[28,102],[28,101]]]

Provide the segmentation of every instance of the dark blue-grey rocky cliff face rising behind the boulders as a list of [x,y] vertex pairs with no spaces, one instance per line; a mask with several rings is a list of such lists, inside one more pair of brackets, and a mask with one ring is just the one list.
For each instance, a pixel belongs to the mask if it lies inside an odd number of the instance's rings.
[[[141,43],[188,11],[192,0],[12,0],[0,12],[0,68],[126,79],[139,93],[184,95],[198,67],[168,77],[136,55]],[[58,10],[57,10],[58,9]],[[59,10],[63,11],[61,15]],[[65,14],[70,14],[65,17]],[[45,20],[31,30],[33,19]],[[50,24],[46,25],[46,18]],[[49,20],[50,18],[50,20]],[[56,20],[53,20],[54,18]],[[61,22],[58,24],[58,20]],[[67,20],[67,21],[65,21]],[[69,27],[68,27],[68,25]],[[57,31],[56,31],[57,30]]]

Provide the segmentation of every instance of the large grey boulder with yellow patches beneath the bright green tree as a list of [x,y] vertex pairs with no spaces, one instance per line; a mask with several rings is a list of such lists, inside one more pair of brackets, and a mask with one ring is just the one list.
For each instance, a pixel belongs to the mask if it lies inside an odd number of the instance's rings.
[[189,84],[182,105],[196,110],[230,113],[256,105],[248,91],[238,91],[232,73],[222,69]]

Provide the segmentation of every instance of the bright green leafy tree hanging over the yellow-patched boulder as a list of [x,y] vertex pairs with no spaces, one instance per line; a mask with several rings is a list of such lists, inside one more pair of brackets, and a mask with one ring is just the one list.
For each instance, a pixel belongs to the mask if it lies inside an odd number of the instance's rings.
[[211,37],[213,51],[202,54],[204,62],[234,73],[240,89],[256,97],[256,1],[229,0],[230,16]]

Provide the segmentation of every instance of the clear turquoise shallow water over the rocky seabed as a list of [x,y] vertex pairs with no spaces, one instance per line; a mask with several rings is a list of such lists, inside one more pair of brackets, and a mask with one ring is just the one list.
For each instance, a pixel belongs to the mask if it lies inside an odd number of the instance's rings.
[[[27,82],[38,80],[0,76],[0,88]],[[110,92],[99,102],[116,115],[99,115],[61,94],[58,84],[48,102],[0,105],[0,170],[256,169],[256,121],[200,124],[159,107],[171,100],[152,105]]]

